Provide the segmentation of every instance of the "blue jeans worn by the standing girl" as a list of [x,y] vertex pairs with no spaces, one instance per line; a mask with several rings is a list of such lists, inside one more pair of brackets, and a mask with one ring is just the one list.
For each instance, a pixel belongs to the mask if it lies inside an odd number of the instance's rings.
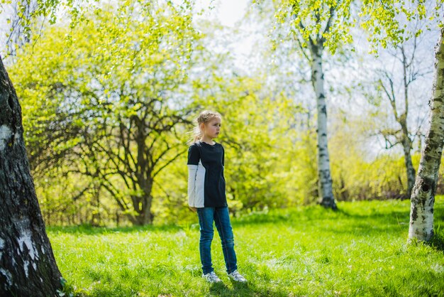
[[213,221],[221,237],[223,258],[228,274],[238,269],[236,254],[234,252],[233,229],[231,228],[228,207],[203,207],[197,209],[201,239],[199,250],[201,253],[202,270],[204,274],[214,271],[211,263],[211,241],[213,240]]

